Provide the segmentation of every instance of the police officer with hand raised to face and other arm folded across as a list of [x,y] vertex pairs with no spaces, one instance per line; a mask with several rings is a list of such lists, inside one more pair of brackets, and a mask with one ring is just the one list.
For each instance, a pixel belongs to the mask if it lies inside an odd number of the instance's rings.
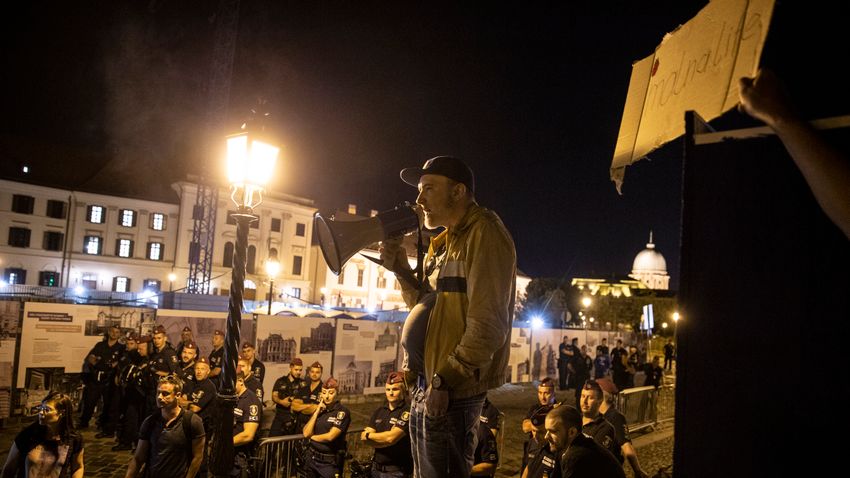
[[351,413],[339,403],[339,383],[330,377],[322,387],[320,402],[304,425],[308,439],[304,465],[307,478],[334,478],[342,475],[345,460],[345,433],[351,424]]

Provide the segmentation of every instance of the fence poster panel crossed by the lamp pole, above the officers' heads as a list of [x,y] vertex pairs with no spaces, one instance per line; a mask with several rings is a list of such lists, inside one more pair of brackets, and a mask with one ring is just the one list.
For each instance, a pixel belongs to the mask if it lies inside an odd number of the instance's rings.
[[[159,309],[156,312],[156,323],[165,327],[168,341],[174,349],[180,343],[180,335],[183,328],[189,327],[192,331],[192,340],[198,346],[198,357],[209,356],[212,352],[212,337],[216,330],[225,330],[227,325],[227,312],[206,312],[200,310],[171,310]],[[150,331],[144,332],[150,333]],[[254,342],[254,316],[253,314],[242,314],[240,330],[239,349],[245,342]],[[256,346],[256,344],[255,344]],[[179,359],[180,357],[178,357]],[[268,375],[268,370],[266,371]],[[268,390],[268,389],[267,389]]]

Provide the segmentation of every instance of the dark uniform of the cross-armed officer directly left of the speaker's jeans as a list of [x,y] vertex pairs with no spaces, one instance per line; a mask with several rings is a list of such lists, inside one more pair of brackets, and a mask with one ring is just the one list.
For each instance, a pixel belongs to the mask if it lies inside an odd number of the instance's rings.
[[410,404],[402,401],[395,409],[390,410],[388,402],[375,410],[372,413],[372,418],[369,419],[369,426],[375,429],[376,433],[392,430],[393,427],[398,427],[404,430],[404,437],[397,441],[394,445],[375,448],[375,455],[372,457],[372,473],[373,476],[377,472],[381,472],[384,476],[404,477],[413,473],[413,456],[410,452],[410,430],[408,421],[410,420]]

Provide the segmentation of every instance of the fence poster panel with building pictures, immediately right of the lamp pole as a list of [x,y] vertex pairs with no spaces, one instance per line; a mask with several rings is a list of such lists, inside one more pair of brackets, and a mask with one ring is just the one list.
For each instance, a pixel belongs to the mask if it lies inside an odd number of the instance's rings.
[[330,376],[336,336],[334,319],[282,315],[257,317],[257,354],[266,366],[263,389],[268,398],[274,382],[289,373],[289,362],[299,357],[304,362],[302,378],[309,381],[309,367],[322,364],[322,379]]

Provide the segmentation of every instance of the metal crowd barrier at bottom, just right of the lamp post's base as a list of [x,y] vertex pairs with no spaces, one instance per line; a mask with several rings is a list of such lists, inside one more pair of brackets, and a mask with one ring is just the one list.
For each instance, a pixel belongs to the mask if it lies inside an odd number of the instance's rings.
[[[346,455],[343,466],[343,477],[349,476],[348,463],[351,460],[368,462],[372,458],[373,449],[360,441],[362,428],[349,430],[345,434]],[[254,455],[255,478],[293,478],[303,468],[303,451],[307,446],[304,435],[287,435],[264,438],[257,446]]]

